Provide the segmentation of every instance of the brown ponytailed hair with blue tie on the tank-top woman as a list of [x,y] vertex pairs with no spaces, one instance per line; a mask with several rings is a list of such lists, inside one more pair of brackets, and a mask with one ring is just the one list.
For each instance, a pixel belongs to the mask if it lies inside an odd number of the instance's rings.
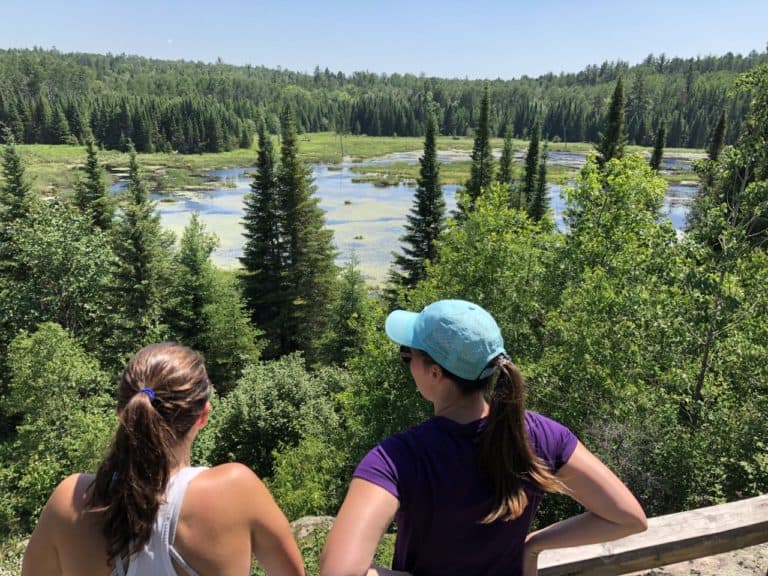
[[118,386],[119,425],[87,502],[103,514],[108,561],[149,541],[178,464],[172,450],[203,413],[210,386],[203,357],[175,342],[146,346],[128,361]]

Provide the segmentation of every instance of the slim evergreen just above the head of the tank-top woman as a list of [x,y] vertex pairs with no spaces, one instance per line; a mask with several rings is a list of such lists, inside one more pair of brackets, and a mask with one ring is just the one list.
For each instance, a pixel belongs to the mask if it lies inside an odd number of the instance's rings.
[[122,326],[117,352],[125,353],[161,338],[164,327],[163,286],[167,272],[166,244],[160,216],[139,173],[136,150],[130,146],[128,192],[115,225],[116,294]]

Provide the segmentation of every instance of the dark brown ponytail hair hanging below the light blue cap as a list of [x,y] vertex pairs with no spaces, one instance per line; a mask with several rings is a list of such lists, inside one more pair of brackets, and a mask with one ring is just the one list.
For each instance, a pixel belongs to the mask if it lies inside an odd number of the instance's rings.
[[[428,354],[419,352],[428,362],[436,364]],[[532,482],[546,492],[564,490],[528,441],[525,379],[520,369],[504,354],[488,365],[495,365],[496,371],[481,380],[460,378],[440,366],[443,374],[455,382],[463,394],[482,390],[489,399],[490,413],[481,436],[478,463],[493,486],[494,502],[491,512],[483,518],[483,524],[520,517],[528,505],[526,482]]]

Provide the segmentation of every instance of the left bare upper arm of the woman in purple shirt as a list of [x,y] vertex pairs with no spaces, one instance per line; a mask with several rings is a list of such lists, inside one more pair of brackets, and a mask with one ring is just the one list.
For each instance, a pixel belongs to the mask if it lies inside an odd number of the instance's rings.
[[376,484],[353,478],[320,556],[321,576],[397,576],[371,566],[381,537],[400,503]]

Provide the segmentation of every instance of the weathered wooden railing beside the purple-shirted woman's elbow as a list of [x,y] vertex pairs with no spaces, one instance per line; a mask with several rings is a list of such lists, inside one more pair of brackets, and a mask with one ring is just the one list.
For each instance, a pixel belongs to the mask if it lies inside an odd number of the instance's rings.
[[627,574],[763,542],[768,494],[651,518],[648,530],[621,540],[547,550],[539,557],[539,576]]

